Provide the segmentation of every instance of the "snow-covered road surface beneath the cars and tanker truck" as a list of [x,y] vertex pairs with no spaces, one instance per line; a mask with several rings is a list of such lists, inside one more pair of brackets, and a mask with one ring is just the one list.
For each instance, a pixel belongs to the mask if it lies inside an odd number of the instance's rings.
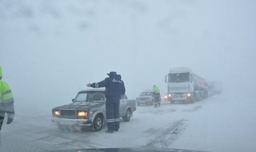
[[158,108],[137,106],[130,122],[121,122],[120,131],[114,134],[105,133],[106,126],[99,132],[61,131],[51,123],[50,109],[49,115],[31,110],[34,116],[16,115],[12,124],[3,125],[0,151],[162,147],[253,152],[256,151],[255,107],[251,101],[225,94],[193,104],[162,101]]

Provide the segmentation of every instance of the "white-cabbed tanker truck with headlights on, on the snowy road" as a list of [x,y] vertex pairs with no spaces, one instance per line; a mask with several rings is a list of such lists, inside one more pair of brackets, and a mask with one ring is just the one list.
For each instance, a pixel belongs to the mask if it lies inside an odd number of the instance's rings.
[[165,99],[193,103],[208,97],[208,84],[204,78],[197,76],[189,67],[173,67],[165,76],[167,94]]

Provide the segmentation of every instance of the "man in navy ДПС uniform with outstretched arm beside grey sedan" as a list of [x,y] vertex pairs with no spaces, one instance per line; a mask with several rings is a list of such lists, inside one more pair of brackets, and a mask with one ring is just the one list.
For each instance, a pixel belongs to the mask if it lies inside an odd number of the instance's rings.
[[107,116],[107,133],[113,133],[118,131],[120,123],[119,115],[119,105],[120,97],[126,92],[123,81],[121,80],[121,75],[116,74],[116,72],[109,72],[109,78],[105,78],[103,81],[98,83],[88,83],[87,87],[92,88],[102,88],[105,87],[105,97],[106,97],[106,116]]

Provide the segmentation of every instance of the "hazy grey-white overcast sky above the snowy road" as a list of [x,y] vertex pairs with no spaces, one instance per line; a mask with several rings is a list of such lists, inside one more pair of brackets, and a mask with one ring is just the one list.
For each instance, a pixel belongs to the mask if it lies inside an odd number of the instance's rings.
[[135,99],[171,67],[224,92],[256,90],[254,0],[2,0],[0,65],[15,102],[67,104],[86,83],[121,74]]

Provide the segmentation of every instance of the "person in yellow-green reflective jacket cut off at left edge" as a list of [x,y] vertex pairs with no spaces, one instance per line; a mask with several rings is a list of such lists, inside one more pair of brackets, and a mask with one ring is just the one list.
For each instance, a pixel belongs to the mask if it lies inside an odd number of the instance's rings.
[[[9,85],[2,81],[2,67],[0,66],[0,131],[7,113],[7,124],[12,123],[14,117],[14,100]],[[0,142],[1,144],[1,142]]]

